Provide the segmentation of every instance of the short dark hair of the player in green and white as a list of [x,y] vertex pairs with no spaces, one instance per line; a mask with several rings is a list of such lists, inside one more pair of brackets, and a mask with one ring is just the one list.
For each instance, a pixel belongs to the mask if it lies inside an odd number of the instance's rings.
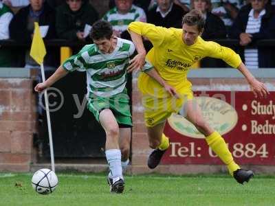
[[91,27],[90,36],[92,39],[99,40],[102,38],[111,39],[113,28],[108,21],[98,20]]

